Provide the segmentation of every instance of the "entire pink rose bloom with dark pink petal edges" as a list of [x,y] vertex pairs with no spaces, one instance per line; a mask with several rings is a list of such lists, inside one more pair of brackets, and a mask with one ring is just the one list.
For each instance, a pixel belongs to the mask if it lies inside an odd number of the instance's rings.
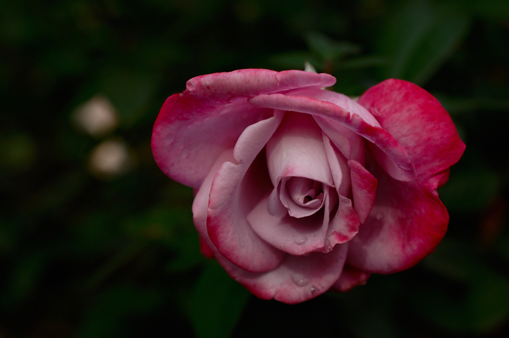
[[193,187],[202,252],[251,293],[298,303],[412,267],[443,238],[437,188],[465,145],[447,111],[388,79],[357,102],[299,70],[198,76],[164,102],[152,151]]

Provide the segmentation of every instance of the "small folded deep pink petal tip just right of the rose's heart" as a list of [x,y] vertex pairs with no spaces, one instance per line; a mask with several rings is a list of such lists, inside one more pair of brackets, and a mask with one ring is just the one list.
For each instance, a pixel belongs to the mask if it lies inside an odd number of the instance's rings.
[[353,205],[359,214],[359,220],[364,223],[370,214],[377,192],[377,179],[359,162],[348,161],[352,182]]

